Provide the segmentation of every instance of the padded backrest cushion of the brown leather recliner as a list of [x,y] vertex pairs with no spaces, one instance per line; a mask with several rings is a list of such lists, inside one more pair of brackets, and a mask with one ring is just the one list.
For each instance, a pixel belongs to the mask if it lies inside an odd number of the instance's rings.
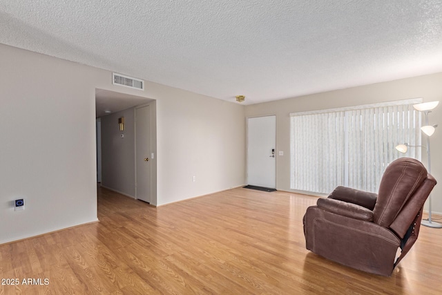
[[[418,191],[426,178],[427,169],[418,160],[399,158],[388,165],[379,185],[378,199],[373,210],[374,222],[382,227],[390,227],[398,213]],[[416,212],[420,208],[416,208]],[[412,216],[412,219],[415,217],[416,214]]]

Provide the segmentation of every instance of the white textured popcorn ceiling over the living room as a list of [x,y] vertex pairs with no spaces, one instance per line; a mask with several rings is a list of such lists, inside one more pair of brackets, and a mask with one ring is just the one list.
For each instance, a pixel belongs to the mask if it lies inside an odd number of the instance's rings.
[[0,43],[244,104],[442,71],[442,1],[0,0]]

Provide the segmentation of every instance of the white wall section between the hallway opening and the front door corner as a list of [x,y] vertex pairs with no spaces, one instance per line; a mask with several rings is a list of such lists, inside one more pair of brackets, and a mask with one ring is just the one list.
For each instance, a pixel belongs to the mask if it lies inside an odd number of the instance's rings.
[[179,90],[157,99],[157,204],[243,185],[245,134],[244,106]]

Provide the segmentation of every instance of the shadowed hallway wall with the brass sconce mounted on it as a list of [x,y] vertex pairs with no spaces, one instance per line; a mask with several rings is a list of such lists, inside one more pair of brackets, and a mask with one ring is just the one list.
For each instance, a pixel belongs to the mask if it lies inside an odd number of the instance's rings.
[[[102,186],[132,198],[135,198],[134,112],[129,108],[102,117]],[[124,117],[124,131],[119,131],[119,117]]]

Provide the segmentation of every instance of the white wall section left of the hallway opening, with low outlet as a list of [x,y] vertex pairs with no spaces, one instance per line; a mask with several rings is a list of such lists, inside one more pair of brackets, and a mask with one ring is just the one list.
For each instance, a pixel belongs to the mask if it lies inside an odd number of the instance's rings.
[[84,66],[3,45],[0,65],[0,243],[97,220],[95,88]]

